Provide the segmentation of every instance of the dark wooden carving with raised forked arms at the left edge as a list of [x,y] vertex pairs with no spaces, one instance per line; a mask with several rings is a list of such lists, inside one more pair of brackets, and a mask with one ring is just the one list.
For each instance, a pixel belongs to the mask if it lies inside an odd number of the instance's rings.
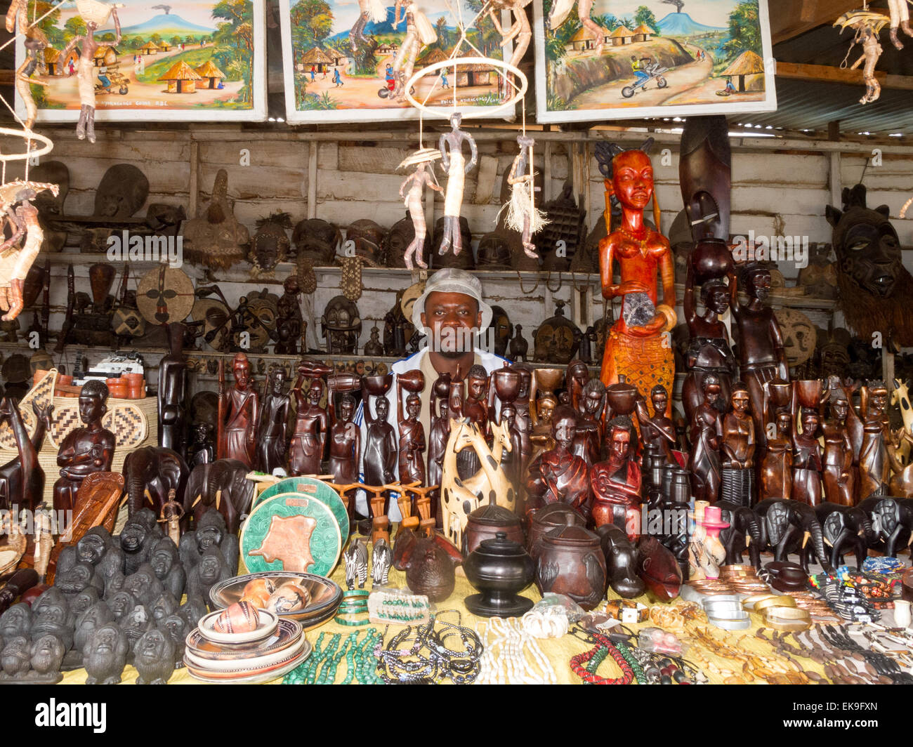
[[38,464],[38,450],[50,427],[51,410],[54,405],[38,405],[32,401],[32,410],[37,417],[35,433],[31,438],[22,422],[16,401],[4,397],[0,401],[0,422],[9,423],[16,440],[19,456],[0,467],[0,505],[6,509],[13,505],[34,510],[41,502],[45,489],[45,471]]

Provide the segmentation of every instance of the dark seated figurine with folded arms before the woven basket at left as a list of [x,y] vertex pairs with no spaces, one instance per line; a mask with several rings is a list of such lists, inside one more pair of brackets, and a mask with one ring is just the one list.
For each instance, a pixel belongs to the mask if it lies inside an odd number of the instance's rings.
[[85,427],[74,428],[58,451],[60,477],[54,483],[54,510],[79,510],[76,495],[83,479],[92,472],[110,472],[114,460],[114,434],[101,426],[108,412],[108,387],[89,380],[79,393],[79,419]]

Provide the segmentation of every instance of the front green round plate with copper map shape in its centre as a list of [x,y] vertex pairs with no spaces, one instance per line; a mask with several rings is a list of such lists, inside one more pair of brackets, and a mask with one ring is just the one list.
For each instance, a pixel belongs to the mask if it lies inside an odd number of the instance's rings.
[[264,500],[241,529],[241,558],[250,573],[302,571],[328,576],[341,552],[336,517],[313,495],[284,493]]

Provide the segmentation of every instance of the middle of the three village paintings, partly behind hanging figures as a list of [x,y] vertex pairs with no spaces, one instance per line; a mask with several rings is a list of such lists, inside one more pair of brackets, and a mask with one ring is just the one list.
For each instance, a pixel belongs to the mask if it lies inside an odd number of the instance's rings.
[[[407,6],[413,18],[408,24]],[[479,15],[483,6],[486,12]],[[420,10],[402,3],[397,13],[396,5],[384,0],[280,0],[286,118],[292,123],[416,119],[418,110],[395,91],[395,70],[407,70],[413,57],[408,50],[417,47],[415,71],[479,53],[509,58],[511,46],[501,46],[488,6],[484,0],[424,0]],[[362,16],[369,10],[371,15]],[[433,33],[410,36],[409,28],[416,26],[413,10],[425,16]],[[458,43],[459,17],[469,44]],[[425,43],[431,37],[434,41]],[[430,73],[412,93],[442,110],[456,99],[464,116],[483,117],[504,116],[503,110],[490,112],[510,95],[503,75],[481,64],[458,65],[456,77],[452,68],[443,75]]]

